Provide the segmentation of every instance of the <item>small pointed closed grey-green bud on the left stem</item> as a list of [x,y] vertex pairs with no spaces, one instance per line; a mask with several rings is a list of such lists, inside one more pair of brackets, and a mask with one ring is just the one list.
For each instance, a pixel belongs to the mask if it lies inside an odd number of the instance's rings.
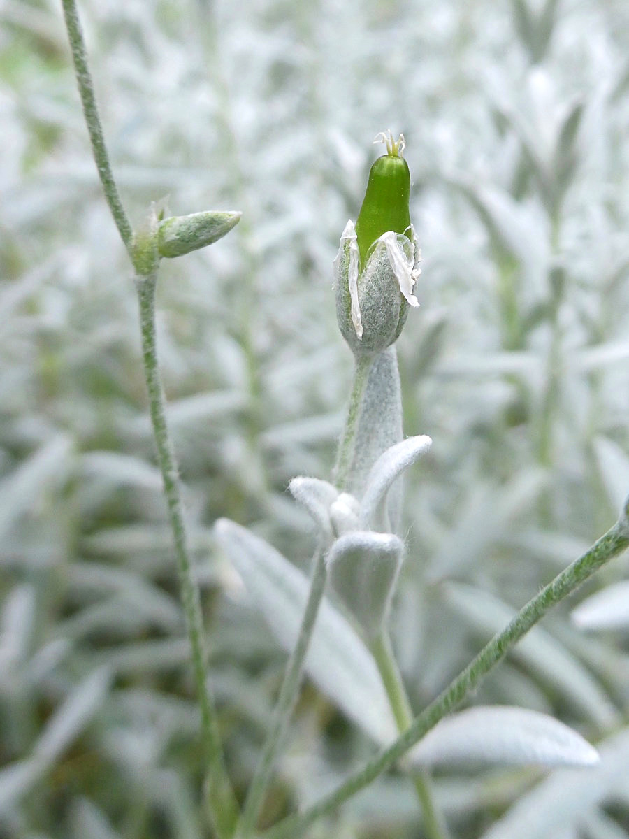
[[160,257],[180,257],[221,239],[240,221],[242,212],[208,210],[190,216],[170,216],[159,221],[157,242]]

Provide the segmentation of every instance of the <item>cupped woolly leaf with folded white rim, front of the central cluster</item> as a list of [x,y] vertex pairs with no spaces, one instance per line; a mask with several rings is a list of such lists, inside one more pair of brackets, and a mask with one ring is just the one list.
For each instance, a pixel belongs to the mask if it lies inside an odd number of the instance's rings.
[[368,638],[387,619],[403,558],[398,536],[355,530],[336,539],[327,556],[330,582]]

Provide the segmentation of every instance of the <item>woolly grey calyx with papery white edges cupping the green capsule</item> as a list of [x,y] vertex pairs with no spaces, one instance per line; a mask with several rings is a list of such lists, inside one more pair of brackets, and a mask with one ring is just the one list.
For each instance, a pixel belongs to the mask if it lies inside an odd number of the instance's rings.
[[348,221],[334,261],[336,317],[355,355],[382,352],[396,341],[408,315],[418,306],[413,289],[420,252],[411,225],[404,233],[387,231],[373,242],[366,265],[360,264],[356,227]]

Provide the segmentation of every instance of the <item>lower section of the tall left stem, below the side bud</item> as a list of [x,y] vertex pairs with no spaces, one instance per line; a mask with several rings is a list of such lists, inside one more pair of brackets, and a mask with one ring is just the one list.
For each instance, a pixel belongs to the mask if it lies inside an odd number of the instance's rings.
[[216,721],[214,702],[207,685],[205,672],[205,643],[201,615],[199,587],[193,576],[185,534],[181,504],[179,472],[170,441],[164,412],[164,388],[159,376],[155,347],[155,284],[157,274],[138,276],[138,300],[142,330],[142,355],[144,375],[148,389],[148,404],[153,435],[158,451],[159,468],[164,480],[164,495],[168,503],[170,527],[173,531],[174,549],[179,571],[181,599],[190,638],[192,664],[201,711],[201,735],[208,761],[208,795],[216,832],[221,839],[229,839],[236,828],[238,805],[227,777]]

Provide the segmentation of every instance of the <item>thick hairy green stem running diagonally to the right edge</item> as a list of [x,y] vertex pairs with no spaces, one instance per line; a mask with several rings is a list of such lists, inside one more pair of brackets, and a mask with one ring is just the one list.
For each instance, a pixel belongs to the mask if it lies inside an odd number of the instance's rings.
[[629,547],[629,509],[623,519],[617,522],[584,555],[575,560],[554,580],[548,583],[536,597],[517,612],[507,627],[497,633],[489,644],[470,664],[462,670],[455,680],[441,693],[418,717],[415,717],[408,729],[398,737],[395,743],[384,749],[377,758],[352,774],[344,784],[325,795],[320,801],[304,810],[301,814],[289,816],[278,825],[266,831],[264,839],[288,839],[289,836],[302,836],[307,826],[313,821],[332,813],[344,801],[356,795],[361,789],[371,784],[378,775],[389,769],[393,763],[408,752],[424,734],[436,726],[456,706],[460,705],[472,690],[475,690],[485,676],[501,661],[510,649],[528,633],[548,610],[572,594],[586,580],[598,571],[602,565]]

